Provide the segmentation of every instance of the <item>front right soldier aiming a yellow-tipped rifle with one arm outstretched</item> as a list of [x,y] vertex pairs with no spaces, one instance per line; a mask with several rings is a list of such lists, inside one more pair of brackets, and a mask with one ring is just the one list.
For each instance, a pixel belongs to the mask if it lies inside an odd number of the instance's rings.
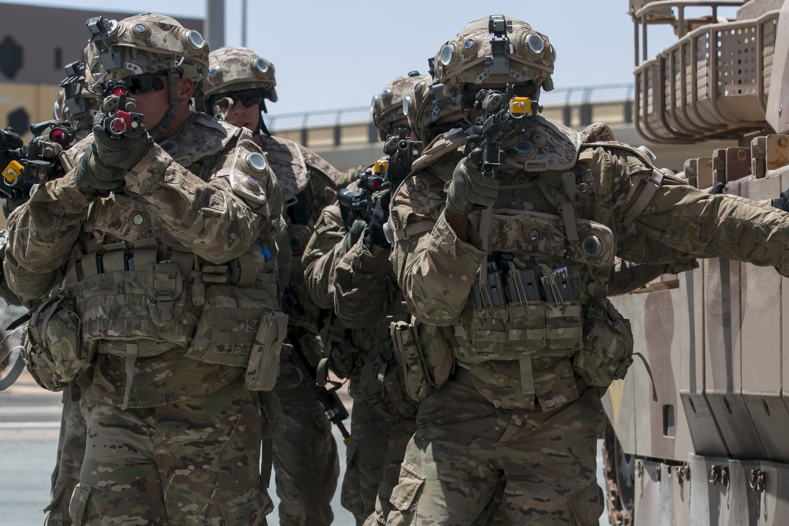
[[[555,50],[523,21],[472,21],[435,61],[434,89],[463,106],[447,120],[476,120],[477,103],[514,132],[495,126],[503,155],[484,135],[484,159],[464,129],[439,136],[393,198],[392,263],[413,315],[394,346],[423,401],[387,524],[472,524],[503,478],[512,524],[597,524],[600,395],[633,360],[606,299],[614,256],[720,256],[787,275],[789,215],[541,117]],[[513,91],[522,99],[504,100]]]

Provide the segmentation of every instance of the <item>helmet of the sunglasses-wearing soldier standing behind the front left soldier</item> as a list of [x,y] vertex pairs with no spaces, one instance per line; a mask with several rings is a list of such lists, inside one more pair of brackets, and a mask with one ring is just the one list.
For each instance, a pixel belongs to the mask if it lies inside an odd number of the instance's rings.
[[[210,113],[222,114],[223,110],[230,110],[232,104],[220,104],[226,95],[232,101],[236,98],[245,106],[247,102],[254,104],[260,101],[260,109],[268,113],[265,99],[272,103],[277,102],[277,81],[274,76],[274,65],[265,58],[258,56],[248,47],[220,47],[208,55],[208,79],[206,79],[205,105]],[[263,118],[258,121],[254,132],[264,132],[271,135],[266,129]]]

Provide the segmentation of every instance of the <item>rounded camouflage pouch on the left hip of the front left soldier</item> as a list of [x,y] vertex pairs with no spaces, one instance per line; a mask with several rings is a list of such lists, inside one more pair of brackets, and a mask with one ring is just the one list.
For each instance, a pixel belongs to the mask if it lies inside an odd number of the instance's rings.
[[22,338],[24,360],[36,382],[59,391],[93,361],[94,349],[82,345],[74,300],[59,292],[34,308]]

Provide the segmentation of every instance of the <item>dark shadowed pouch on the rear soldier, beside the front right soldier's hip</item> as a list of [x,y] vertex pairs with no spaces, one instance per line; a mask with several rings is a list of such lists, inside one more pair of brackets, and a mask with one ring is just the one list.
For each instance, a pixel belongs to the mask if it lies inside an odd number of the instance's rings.
[[367,354],[359,390],[372,410],[387,422],[412,416],[419,407],[406,390],[405,371],[394,356],[389,338]]

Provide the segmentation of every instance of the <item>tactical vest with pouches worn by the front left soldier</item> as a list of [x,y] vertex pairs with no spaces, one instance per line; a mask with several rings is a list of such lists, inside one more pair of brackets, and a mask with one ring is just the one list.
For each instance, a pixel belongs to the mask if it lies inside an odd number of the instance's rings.
[[[241,139],[248,134],[243,130]],[[205,150],[187,155],[185,162],[193,165],[218,151]],[[234,174],[229,175],[232,182]],[[215,264],[179,243],[142,196],[126,191],[96,200],[65,279],[31,319],[28,334],[38,348],[32,352],[63,363],[68,360],[58,356],[68,353],[88,364],[95,353],[123,357],[124,407],[136,358],[175,348],[209,364],[248,367],[247,387],[270,390],[287,316],[279,308],[275,231],[266,228],[245,254]],[[78,372],[72,367],[66,381]]]

